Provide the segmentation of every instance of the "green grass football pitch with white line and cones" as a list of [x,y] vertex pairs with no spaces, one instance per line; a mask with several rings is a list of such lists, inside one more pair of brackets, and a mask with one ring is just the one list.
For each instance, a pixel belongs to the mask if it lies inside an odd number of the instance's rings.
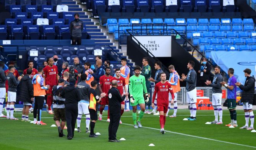
[[[85,133],[85,116],[81,120],[81,133],[75,131],[75,137],[67,140],[58,137],[57,127],[53,115],[45,111],[42,113],[42,121],[47,123],[39,126],[28,122],[21,122],[21,112],[15,112],[19,120],[0,119],[1,136],[0,150],[242,150],[256,149],[256,132],[239,129],[245,124],[243,110],[237,110],[238,127],[228,128],[230,123],[229,111],[223,111],[224,124],[205,124],[214,120],[213,110],[197,111],[196,121],[183,121],[188,117],[189,110],[178,110],[176,118],[167,117],[165,134],[160,133],[159,116],[145,114],[141,119],[142,128],[134,129],[131,111],[122,116],[123,124],[120,124],[117,139],[125,138],[122,142],[108,142],[108,126],[106,111],[102,121],[97,121],[94,132],[101,135],[97,138],[89,138]],[[172,115],[170,110],[169,115]],[[33,120],[32,113],[29,114]],[[137,115],[138,117],[138,115]],[[250,122],[249,122],[250,125]],[[64,130],[67,135],[67,131]],[[148,146],[154,144],[155,146]]]

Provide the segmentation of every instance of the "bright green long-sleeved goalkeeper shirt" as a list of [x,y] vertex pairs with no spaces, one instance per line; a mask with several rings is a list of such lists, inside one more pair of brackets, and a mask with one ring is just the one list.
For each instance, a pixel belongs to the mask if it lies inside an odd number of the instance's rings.
[[129,93],[135,98],[143,97],[144,93],[147,93],[145,77],[139,75],[138,77],[133,75],[129,79]]

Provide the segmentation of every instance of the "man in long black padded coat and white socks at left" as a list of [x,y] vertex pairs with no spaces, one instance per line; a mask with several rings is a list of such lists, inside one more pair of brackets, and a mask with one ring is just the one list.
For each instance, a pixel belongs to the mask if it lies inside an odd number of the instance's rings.
[[31,120],[28,119],[29,114],[29,107],[32,106],[32,102],[34,101],[34,91],[33,91],[33,85],[32,85],[32,79],[30,75],[32,74],[32,70],[28,69],[27,74],[25,74],[21,78],[21,82],[19,83],[19,99],[23,101],[23,110],[22,110],[22,116],[21,121],[25,122],[31,122]]

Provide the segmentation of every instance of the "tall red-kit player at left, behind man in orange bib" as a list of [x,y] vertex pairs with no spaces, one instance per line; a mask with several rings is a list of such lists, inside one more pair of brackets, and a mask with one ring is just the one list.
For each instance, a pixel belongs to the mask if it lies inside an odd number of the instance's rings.
[[[48,105],[48,110],[49,110],[49,114],[53,114],[52,113],[52,100],[53,100],[53,96],[52,96],[52,87],[54,85],[57,85],[57,81],[59,79],[58,76],[58,68],[57,66],[53,65],[54,61],[53,58],[48,58],[48,66],[44,67],[44,84],[45,85],[50,85],[50,88],[46,91],[46,95],[47,95],[47,105]],[[47,107],[46,105],[46,107]]]

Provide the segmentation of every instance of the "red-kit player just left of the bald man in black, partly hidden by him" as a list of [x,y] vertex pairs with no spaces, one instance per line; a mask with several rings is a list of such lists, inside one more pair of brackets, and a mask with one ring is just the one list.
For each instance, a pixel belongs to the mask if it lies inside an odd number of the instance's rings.
[[[99,79],[99,90],[100,93],[109,93],[109,89],[110,89],[110,80],[113,77],[110,76],[110,67],[105,67],[105,74],[103,76],[100,77]],[[100,115],[99,115],[99,120],[102,119],[102,111],[105,108],[105,105],[109,105],[109,97],[108,95],[106,95],[105,97],[101,98],[101,102],[100,102]],[[107,111],[107,121],[110,122],[109,119],[109,110]]]

